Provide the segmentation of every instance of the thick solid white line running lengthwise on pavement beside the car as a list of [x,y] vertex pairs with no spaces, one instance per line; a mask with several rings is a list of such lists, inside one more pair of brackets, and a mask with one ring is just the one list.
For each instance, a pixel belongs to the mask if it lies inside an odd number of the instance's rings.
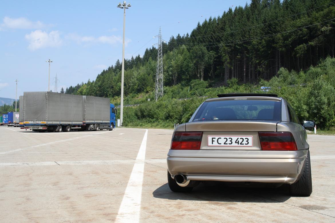
[[141,211],[144,159],[148,129],[145,130],[115,222],[139,222]]

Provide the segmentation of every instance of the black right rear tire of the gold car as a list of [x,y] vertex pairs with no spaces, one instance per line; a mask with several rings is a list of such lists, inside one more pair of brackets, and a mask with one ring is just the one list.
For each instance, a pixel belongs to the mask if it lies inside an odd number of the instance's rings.
[[304,173],[301,178],[289,186],[290,194],[293,196],[309,197],[312,194],[312,173],[310,151],[307,153]]

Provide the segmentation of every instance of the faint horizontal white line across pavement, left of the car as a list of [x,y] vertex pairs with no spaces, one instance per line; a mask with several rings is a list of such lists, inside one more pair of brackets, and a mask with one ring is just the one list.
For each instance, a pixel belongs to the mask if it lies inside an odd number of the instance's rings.
[[[133,164],[134,159],[120,160],[76,160],[76,161],[45,161],[45,162],[0,162],[0,166],[50,166],[50,165],[114,165]],[[139,162],[139,161],[137,161]],[[166,163],[166,159],[145,159],[145,163]]]

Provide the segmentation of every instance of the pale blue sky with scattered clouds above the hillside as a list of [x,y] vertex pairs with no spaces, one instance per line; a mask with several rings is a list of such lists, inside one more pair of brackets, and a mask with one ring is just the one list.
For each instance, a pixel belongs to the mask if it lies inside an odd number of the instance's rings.
[[[143,55],[163,39],[191,32],[198,21],[222,15],[237,1],[129,1],[126,9],[125,58]],[[127,1],[127,4],[129,3]],[[123,9],[119,1],[3,1],[0,10],[0,97],[15,98],[24,91],[58,92],[70,85],[94,80],[116,60],[122,60]],[[142,47],[143,46],[143,47]],[[142,47],[142,48],[141,48]]]

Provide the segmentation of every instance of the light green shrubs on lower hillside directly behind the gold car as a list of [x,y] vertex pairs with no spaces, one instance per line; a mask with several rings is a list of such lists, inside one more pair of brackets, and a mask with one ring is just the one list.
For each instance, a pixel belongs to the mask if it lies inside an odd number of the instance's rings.
[[[261,80],[257,85],[238,84],[238,80],[232,78],[227,86],[216,88],[208,87],[208,81],[201,80],[192,80],[190,86],[168,86],[157,102],[139,101],[139,98],[136,103],[139,106],[125,107],[123,125],[173,128],[174,123],[188,122],[205,98],[235,92],[264,93],[261,86],[271,86],[268,93],[287,99],[300,121],[315,120],[318,129],[335,130],[335,58],[330,57],[304,72],[280,68],[278,76],[268,81]],[[206,97],[199,97],[204,95]]]

